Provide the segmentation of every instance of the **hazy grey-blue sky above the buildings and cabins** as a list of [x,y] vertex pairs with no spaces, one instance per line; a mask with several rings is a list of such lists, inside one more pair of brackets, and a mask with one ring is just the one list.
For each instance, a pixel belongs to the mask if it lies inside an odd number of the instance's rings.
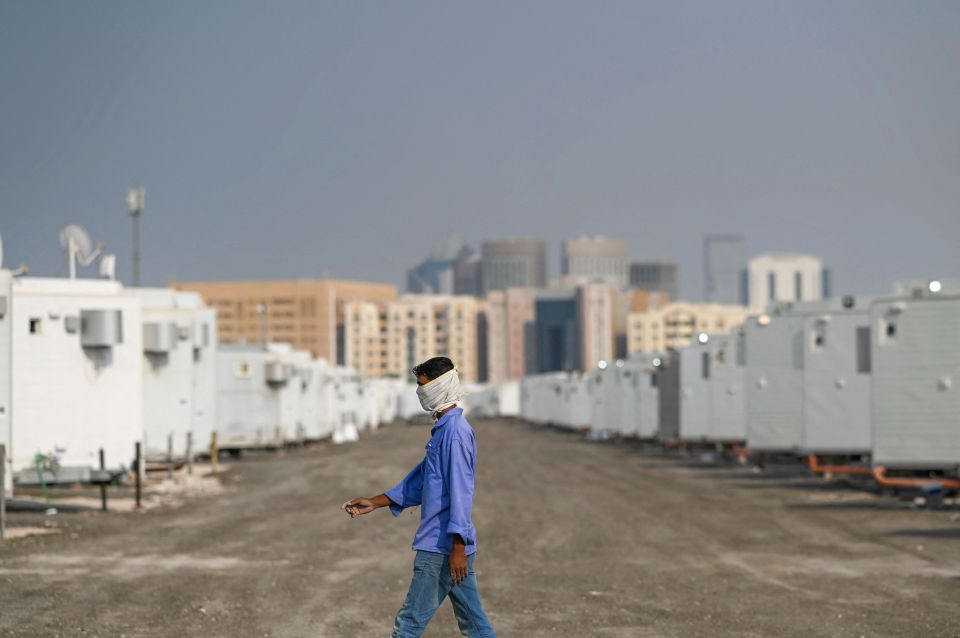
[[0,0],[5,265],[400,284],[451,232],[960,276],[960,2]]

